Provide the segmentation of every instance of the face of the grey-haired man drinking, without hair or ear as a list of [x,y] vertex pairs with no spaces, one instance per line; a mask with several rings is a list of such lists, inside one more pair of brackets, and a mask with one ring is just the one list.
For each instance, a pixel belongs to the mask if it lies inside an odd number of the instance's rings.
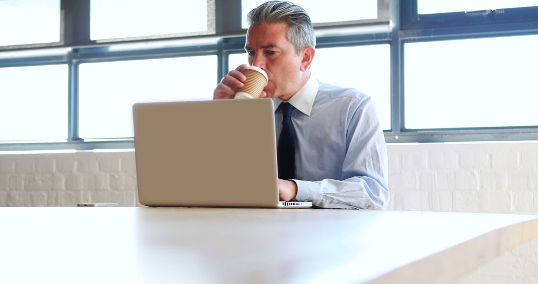
[[245,50],[249,65],[264,69],[269,77],[265,87],[267,97],[291,96],[301,82],[301,58],[287,38],[286,23],[265,23],[250,26],[246,33]]

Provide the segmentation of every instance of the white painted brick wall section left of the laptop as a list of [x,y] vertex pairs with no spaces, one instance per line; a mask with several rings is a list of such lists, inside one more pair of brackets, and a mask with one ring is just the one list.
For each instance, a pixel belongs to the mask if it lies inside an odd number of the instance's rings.
[[0,206],[139,205],[134,152],[0,154]]

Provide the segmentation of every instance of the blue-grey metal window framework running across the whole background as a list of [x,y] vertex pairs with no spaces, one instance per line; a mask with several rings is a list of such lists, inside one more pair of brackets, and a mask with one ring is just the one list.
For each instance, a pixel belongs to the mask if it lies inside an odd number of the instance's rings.
[[[214,0],[209,0],[214,1]],[[384,131],[387,143],[440,143],[465,141],[538,140],[538,125],[524,127],[476,127],[465,129],[407,129],[405,127],[404,52],[408,42],[447,39],[471,39],[538,34],[535,19],[526,22],[506,18],[504,22],[454,25],[457,15],[431,15],[441,18],[417,18],[417,0],[378,0],[378,19],[370,22],[316,24],[316,48],[390,44],[391,57],[391,129]],[[217,82],[228,73],[228,55],[244,52],[245,30],[241,28],[241,1],[215,1],[215,34],[202,36],[145,37],[110,42],[89,40],[89,0],[61,1],[61,42],[53,44],[0,47],[0,68],[66,63],[69,66],[68,139],[56,143],[3,143],[0,151],[26,150],[99,150],[133,148],[133,138],[86,139],[78,137],[79,65],[88,62],[174,58],[217,55]],[[513,8],[526,9],[526,8]],[[534,11],[534,9],[533,9]],[[515,15],[512,12],[510,15]],[[453,14],[453,13],[451,13]],[[409,17],[409,15],[411,17]],[[538,15],[538,14],[537,14]],[[475,15],[477,16],[477,15]],[[450,17],[444,21],[442,17]],[[434,21],[435,20],[435,21]],[[434,22],[432,22],[434,21]],[[530,22],[529,22],[530,21]],[[444,23],[444,24],[443,24]],[[107,40],[108,41],[108,40]],[[134,47],[144,43],[152,48]],[[159,47],[162,44],[163,46]],[[122,47],[125,46],[124,49]],[[119,47],[119,48],[118,48]],[[15,51],[42,51],[65,48],[63,54],[3,58]]]

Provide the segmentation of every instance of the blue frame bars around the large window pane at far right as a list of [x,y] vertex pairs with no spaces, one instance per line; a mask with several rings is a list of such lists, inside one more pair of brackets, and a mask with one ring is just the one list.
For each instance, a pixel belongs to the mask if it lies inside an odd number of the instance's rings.
[[[538,140],[538,125],[509,127],[465,127],[447,129],[408,129],[405,127],[404,53],[409,42],[478,39],[538,34],[538,7],[499,9],[501,17],[491,13],[441,13],[418,15],[418,0],[404,0],[399,6],[401,29],[399,49],[398,128],[385,133],[388,143],[444,143],[469,141]],[[535,14],[533,14],[535,13]],[[395,67],[395,65],[393,65]],[[395,94],[393,94],[393,98]]]

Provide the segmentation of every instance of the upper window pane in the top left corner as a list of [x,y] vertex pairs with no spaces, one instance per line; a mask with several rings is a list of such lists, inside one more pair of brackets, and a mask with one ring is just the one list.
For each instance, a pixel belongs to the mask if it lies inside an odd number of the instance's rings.
[[60,41],[60,0],[0,1],[0,46]]

